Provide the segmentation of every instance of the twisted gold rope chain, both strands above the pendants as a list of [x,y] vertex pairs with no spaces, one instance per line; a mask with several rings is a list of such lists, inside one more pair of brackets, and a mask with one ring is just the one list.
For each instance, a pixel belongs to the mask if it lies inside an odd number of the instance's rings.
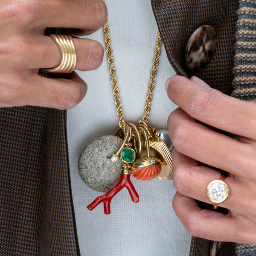
[[[105,2],[105,0],[104,0]],[[119,117],[118,125],[126,134],[125,120],[123,119],[123,111],[121,107],[121,99],[119,98],[119,89],[117,87],[116,69],[114,67],[113,49],[111,47],[111,37],[109,35],[108,19],[104,23],[103,32],[105,34],[106,52],[108,55],[109,73],[111,74],[111,84],[113,85],[113,95],[115,96],[116,114]],[[159,64],[159,57],[161,54],[160,48],[163,44],[160,32],[157,32],[156,49],[154,50],[154,59],[152,61],[152,69],[150,72],[150,81],[148,83],[148,94],[146,96],[146,104],[144,107],[143,121],[148,122],[149,112],[151,109],[152,93],[154,91],[155,83],[154,80],[157,76],[157,67]]]

